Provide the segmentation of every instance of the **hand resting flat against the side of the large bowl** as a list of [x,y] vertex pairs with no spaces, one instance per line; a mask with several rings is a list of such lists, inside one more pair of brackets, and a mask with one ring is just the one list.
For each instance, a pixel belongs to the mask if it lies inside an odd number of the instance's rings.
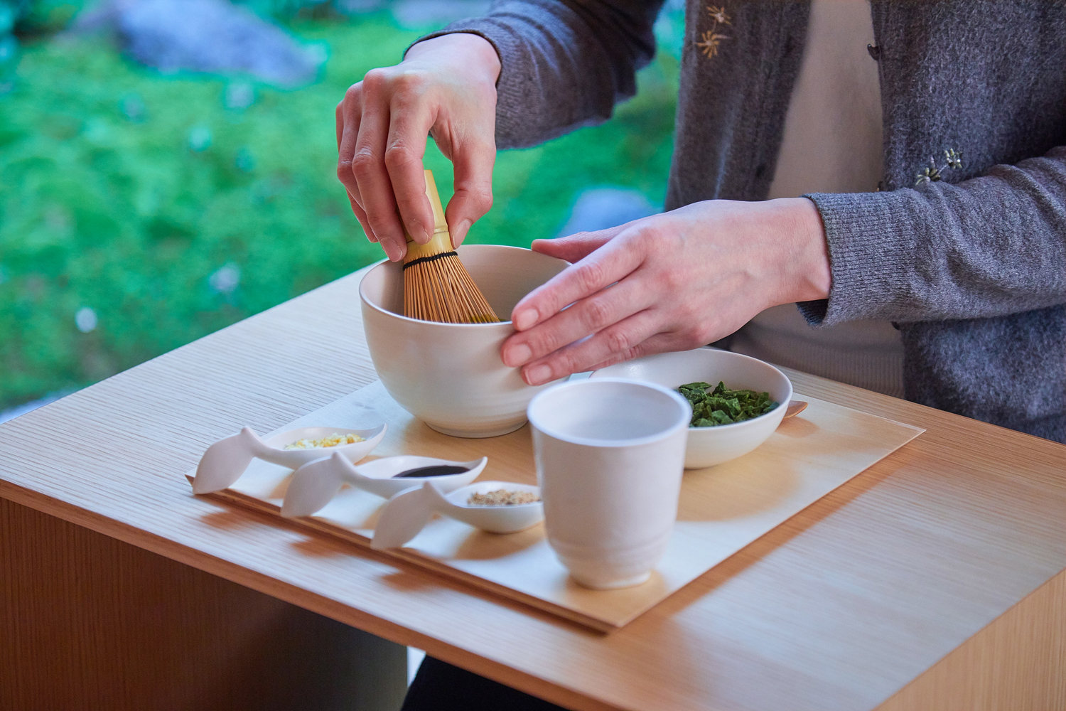
[[699,348],[765,308],[829,293],[822,219],[804,197],[694,203],[533,249],[574,265],[512,311],[518,333],[501,355],[530,385]]

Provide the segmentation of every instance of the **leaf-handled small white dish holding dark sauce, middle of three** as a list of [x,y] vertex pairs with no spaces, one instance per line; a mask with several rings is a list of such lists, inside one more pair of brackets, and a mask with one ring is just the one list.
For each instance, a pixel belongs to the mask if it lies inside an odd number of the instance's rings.
[[[376,494],[388,499],[404,489],[421,486],[433,481],[442,491],[452,491],[466,486],[485,468],[488,457],[473,462],[452,462],[432,456],[403,454],[374,459],[356,467],[340,454],[305,464],[292,475],[281,504],[281,515],[287,517],[310,516],[329,503],[340,487],[350,484],[356,488]],[[466,471],[436,476],[405,476],[397,474],[419,467],[455,466]]]

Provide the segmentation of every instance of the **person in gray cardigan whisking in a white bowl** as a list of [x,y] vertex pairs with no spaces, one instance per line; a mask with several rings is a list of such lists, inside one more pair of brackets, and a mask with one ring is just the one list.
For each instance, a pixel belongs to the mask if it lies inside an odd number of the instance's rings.
[[[536,385],[717,342],[1066,441],[1066,4],[717,2],[687,5],[665,211],[534,241],[574,265],[515,306],[504,362]],[[368,238],[399,260],[431,233],[429,133],[461,243],[498,147],[635,93],[660,9],[496,0],[368,72],[337,107]],[[406,708],[459,674],[424,669]]]

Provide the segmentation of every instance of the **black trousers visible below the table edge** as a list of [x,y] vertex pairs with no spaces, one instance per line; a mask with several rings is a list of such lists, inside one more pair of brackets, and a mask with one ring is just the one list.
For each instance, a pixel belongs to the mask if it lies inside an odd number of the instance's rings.
[[511,686],[426,657],[402,711],[564,711]]

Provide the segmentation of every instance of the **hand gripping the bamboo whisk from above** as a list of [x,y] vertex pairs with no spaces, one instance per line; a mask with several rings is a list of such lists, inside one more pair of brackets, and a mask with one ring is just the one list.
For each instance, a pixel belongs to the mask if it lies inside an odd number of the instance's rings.
[[407,253],[404,225],[419,244],[433,235],[422,174],[426,134],[455,165],[445,211],[455,246],[492,206],[499,75],[486,39],[448,34],[418,43],[395,66],[371,69],[337,104],[337,177],[367,237],[392,261]]

